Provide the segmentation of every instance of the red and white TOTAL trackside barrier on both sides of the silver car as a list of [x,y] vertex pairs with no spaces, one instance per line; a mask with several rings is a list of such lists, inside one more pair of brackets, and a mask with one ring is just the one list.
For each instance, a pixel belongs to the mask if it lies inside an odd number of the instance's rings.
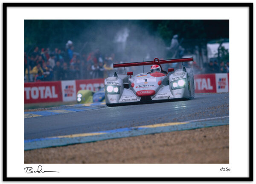
[[[229,91],[229,74],[197,74],[195,93],[221,93]],[[24,83],[24,103],[76,101],[79,90],[98,91],[104,79],[67,80]]]

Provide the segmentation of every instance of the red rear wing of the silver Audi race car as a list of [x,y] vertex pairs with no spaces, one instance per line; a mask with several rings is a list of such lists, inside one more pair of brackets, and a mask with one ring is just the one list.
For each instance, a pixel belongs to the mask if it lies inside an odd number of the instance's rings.
[[[155,61],[156,59],[157,59],[157,61]],[[113,64],[113,68],[128,67],[128,66],[154,65],[159,62],[160,62],[160,64],[166,64],[166,63],[189,62],[189,61],[193,61],[193,58],[189,57],[189,58],[181,58],[181,59],[164,59],[164,60],[160,60],[160,61],[158,58],[155,58],[154,61],[128,62],[128,63],[121,63],[121,64]]]

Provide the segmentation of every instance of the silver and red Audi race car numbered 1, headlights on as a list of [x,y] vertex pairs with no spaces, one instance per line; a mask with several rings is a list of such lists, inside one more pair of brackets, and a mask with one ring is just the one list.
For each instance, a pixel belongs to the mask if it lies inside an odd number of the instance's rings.
[[183,66],[174,71],[163,71],[161,64],[189,62],[193,58],[165,59],[146,62],[113,64],[113,68],[152,65],[148,73],[133,76],[133,72],[116,74],[105,79],[105,101],[107,106],[141,104],[169,101],[172,99],[193,99],[195,96],[194,75],[191,68]]

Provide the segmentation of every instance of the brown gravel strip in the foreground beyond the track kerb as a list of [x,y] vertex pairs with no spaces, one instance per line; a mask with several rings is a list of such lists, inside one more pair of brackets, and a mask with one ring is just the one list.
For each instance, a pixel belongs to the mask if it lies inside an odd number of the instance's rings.
[[229,163],[229,125],[24,151],[34,164]]

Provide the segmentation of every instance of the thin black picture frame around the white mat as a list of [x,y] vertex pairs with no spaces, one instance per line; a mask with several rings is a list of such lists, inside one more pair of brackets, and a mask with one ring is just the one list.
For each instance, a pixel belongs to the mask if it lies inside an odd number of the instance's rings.
[[[249,177],[248,178],[21,178],[7,177],[7,7],[249,7]],[[253,181],[253,3],[3,3],[3,181]]]

